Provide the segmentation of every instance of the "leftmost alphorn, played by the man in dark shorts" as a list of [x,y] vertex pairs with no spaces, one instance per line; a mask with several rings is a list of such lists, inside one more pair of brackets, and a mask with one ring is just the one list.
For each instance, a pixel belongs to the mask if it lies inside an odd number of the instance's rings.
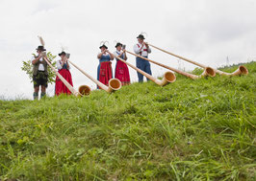
[[74,89],[74,87],[72,87],[65,79],[64,77],[52,66],[52,64],[50,63],[49,59],[47,58],[46,56],[46,53],[44,52],[42,54],[44,60],[47,62],[47,64],[51,67],[51,69],[55,72],[56,76],[58,76],[63,82],[64,82],[64,85],[68,88],[68,90],[73,94],[75,95],[76,97],[78,96],[82,96],[82,95],[89,95],[90,94],[90,87],[87,86],[87,85],[83,85],[85,87],[87,87],[87,91],[84,91],[84,92],[78,92]]

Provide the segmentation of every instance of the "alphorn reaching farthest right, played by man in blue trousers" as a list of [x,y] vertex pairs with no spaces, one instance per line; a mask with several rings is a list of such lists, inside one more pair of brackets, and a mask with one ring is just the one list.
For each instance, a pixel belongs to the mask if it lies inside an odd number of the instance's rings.
[[183,60],[185,60],[185,61],[188,61],[188,62],[190,62],[190,63],[192,63],[192,64],[194,64],[194,65],[197,65],[197,66],[199,66],[199,67],[202,67],[202,68],[204,68],[204,69],[210,68],[210,69],[212,69],[211,72],[214,73],[214,74],[215,74],[215,73],[218,73],[218,74],[221,75],[221,76],[222,76],[222,75],[223,75],[223,76],[241,76],[241,75],[247,75],[247,74],[248,74],[248,70],[247,70],[246,67],[244,67],[243,65],[239,66],[239,68],[238,68],[235,72],[233,72],[233,73],[226,73],[226,72],[222,72],[222,71],[220,71],[220,70],[218,70],[218,69],[214,69],[214,68],[211,68],[211,67],[207,67],[207,66],[205,66],[205,65],[203,65],[203,64],[201,64],[201,63],[192,61],[191,59],[188,59],[188,58],[186,58],[186,57],[181,57],[181,56],[175,55],[175,54],[173,54],[173,53],[167,52],[166,50],[163,50],[163,49],[161,49],[161,48],[159,48],[159,47],[156,47],[156,46],[154,46],[154,45],[151,45],[151,44],[149,44],[149,43],[146,43],[146,44],[148,44],[149,46],[151,46],[151,47],[153,47],[153,48],[155,48],[155,49],[158,49],[158,50],[160,50],[160,51],[162,51],[162,52],[165,52],[166,54],[168,54],[168,55],[170,55],[170,56],[181,58],[181,59],[183,59]]

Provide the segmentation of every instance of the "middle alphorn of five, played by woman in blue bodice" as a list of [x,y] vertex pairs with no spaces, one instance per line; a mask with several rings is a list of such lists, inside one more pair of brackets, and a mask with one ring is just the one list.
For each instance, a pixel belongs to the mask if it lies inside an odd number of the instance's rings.
[[147,79],[151,79],[152,81],[154,81],[156,84],[160,85],[160,86],[165,86],[167,83],[172,83],[176,80],[175,75],[172,72],[166,72],[163,79],[156,79],[153,76],[141,71],[141,69],[137,68],[136,66],[132,65],[131,63],[125,61],[124,59],[117,57],[114,55],[115,58],[119,59],[120,61],[124,62],[125,64],[127,64],[128,66],[132,67],[133,69],[135,69],[137,72],[141,73],[141,75],[143,75],[144,77],[146,77]]

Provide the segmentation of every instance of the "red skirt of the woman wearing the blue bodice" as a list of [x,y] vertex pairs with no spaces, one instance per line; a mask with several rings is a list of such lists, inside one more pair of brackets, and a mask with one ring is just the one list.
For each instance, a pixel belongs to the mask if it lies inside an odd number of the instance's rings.
[[[112,68],[110,61],[100,63],[99,81],[105,85],[109,85],[109,80],[112,79]],[[98,87],[101,89],[101,87]]]

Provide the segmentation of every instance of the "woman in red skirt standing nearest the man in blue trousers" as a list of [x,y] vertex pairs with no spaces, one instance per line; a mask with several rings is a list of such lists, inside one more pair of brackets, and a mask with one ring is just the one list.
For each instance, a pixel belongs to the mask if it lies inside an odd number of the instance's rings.
[[[116,51],[115,56],[120,57],[124,60],[127,60],[127,56],[125,53],[125,49],[122,49],[122,44],[117,43],[115,45]],[[130,84],[130,74],[129,69],[127,65],[116,58],[116,64],[115,64],[115,78],[119,79],[122,82],[122,85]]]

